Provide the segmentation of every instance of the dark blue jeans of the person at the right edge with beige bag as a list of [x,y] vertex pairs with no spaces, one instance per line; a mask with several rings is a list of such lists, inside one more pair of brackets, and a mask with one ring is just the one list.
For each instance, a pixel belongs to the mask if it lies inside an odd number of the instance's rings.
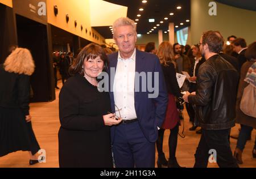
[[[247,142],[247,139],[251,135],[251,131],[253,131],[253,127],[241,124],[241,131],[239,133],[238,140],[237,140],[237,148],[239,148],[241,151],[243,151],[243,149],[245,148],[245,144]],[[256,139],[255,139],[254,149],[256,150]]]

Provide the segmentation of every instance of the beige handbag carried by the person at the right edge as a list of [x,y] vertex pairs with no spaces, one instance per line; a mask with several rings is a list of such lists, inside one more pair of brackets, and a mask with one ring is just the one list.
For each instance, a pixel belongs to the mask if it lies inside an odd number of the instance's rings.
[[243,90],[240,109],[247,116],[256,118],[256,88],[251,84]]

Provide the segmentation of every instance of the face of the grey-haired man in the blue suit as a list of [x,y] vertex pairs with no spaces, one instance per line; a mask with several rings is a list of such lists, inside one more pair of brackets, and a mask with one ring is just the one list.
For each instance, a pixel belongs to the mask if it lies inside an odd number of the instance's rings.
[[131,56],[135,49],[137,33],[131,25],[123,25],[115,28],[114,40],[119,51],[126,56]]

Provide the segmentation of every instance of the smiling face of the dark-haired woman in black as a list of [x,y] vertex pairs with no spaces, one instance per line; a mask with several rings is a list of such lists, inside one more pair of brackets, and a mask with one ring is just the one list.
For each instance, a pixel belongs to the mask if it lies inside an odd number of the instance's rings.
[[85,76],[89,78],[97,78],[98,75],[101,74],[104,66],[104,62],[100,58],[100,56],[95,59],[89,58],[88,61],[84,61],[84,73]]

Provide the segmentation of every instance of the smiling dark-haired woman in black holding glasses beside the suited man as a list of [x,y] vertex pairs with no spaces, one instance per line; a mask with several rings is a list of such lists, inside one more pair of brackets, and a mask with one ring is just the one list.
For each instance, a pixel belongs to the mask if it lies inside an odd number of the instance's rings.
[[108,67],[104,49],[89,44],[81,50],[60,91],[59,164],[65,167],[113,167],[108,92],[99,92],[97,76]]

